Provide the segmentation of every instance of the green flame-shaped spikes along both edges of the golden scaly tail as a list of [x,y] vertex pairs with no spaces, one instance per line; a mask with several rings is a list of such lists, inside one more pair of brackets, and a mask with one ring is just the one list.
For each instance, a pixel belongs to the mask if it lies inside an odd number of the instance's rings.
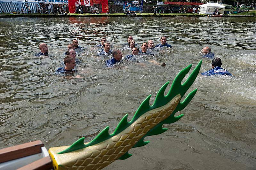
[[[180,73],[178,73],[178,75],[175,77],[171,89],[169,90],[169,92],[167,93],[166,96],[164,96],[164,91],[167,87],[167,85],[169,84],[169,81],[167,81],[162,87],[161,89],[158,91],[157,95],[156,95],[156,99],[154,101],[153,105],[149,105],[149,99],[151,97],[151,95],[149,95],[141,104],[140,107],[138,108],[138,110],[136,111],[136,113],[134,114],[133,118],[131,121],[127,121],[127,117],[128,114],[126,114],[122,120],[119,122],[119,124],[117,125],[115,131],[112,134],[108,133],[108,129],[109,126],[107,126],[105,129],[103,129],[91,142],[84,144],[84,137],[78,139],[75,143],[73,143],[69,148],[65,149],[64,151],[59,152],[58,154],[62,154],[62,153],[68,153],[71,151],[76,151],[79,149],[83,149],[86,148],[88,146],[92,146],[94,144],[100,143],[102,141],[105,141],[117,134],[119,134],[120,132],[122,132],[124,129],[126,129],[127,127],[129,127],[135,120],[137,120],[141,115],[143,115],[144,113],[152,110],[152,109],[156,109],[158,107],[161,107],[165,104],[167,104],[168,102],[170,102],[172,100],[173,97],[175,97],[176,95],[180,94],[181,98],[184,96],[184,94],[187,92],[187,90],[190,88],[190,86],[193,84],[193,82],[196,80],[196,77],[199,73],[200,67],[202,64],[202,60],[198,63],[198,65],[196,66],[196,68],[193,70],[193,72],[191,73],[191,75],[188,77],[188,79],[181,84],[182,79],[186,76],[186,74],[189,72],[190,68],[192,67],[192,64],[190,64],[189,66],[187,66],[186,68],[184,68],[183,70],[180,71]],[[192,98],[195,96],[197,89],[194,89],[193,91],[191,91],[188,96],[182,101],[180,102],[176,109],[173,111],[173,113],[164,121],[160,122],[159,124],[157,124],[154,128],[152,128],[150,131],[148,131],[148,133],[146,135],[144,135],[139,142],[137,142],[133,148],[135,147],[140,147],[140,146],[144,146],[146,144],[149,143],[149,141],[144,142],[144,138],[146,136],[151,136],[151,135],[158,135],[161,134],[163,132],[165,132],[167,129],[166,128],[162,128],[162,125],[164,123],[174,123],[177,120],[179,120],[183,114],[179,115],[179,116],[174,116],[176,112],[184,109],[188,103],[192,100]],[[128,152],[126,152],[123,156],[121,156],[119,159],[126,159],[129,158],[130,156],[132,156],[131,154],[129,154]]]

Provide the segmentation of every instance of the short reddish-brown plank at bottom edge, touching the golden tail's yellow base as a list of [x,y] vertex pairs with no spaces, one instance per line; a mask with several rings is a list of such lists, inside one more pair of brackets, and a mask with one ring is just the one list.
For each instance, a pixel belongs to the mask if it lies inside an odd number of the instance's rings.
[[31,164],[28,164],[26,166],[23,166],[17,170],[48,170],[53,169],[52,166],[52,159],[50,156],[41,158],[35,162],[32,162]]

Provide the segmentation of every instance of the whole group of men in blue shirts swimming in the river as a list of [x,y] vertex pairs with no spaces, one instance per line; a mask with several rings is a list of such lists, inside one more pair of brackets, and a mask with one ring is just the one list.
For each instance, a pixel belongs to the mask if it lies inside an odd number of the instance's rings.
[[[133,58],[136,58],[138,55],[152,55],[153,50],[159,49],[159,48],[172,48],[172,46],[168,43],[166,43],[167,37],[162,36],[160,38],[160,43],[154,46],[154,42],[152,40],[149,40],[148,42],[141,44],[141,50],[138,47],[135,47],[137,44],[133,40],[133,37],[129,35],[127,37],[127,43],[124,44],[123,49],[130,49],[132,50],[132,54],[125,57],[126,60],[132,60]],[[113,67],[117,63],[120,62],[120,60],[123,59],[122,51],[119,49],[111,50],[110,43],[107,41],[106,38],[102,38],[101,43],[97,45],[98,48],[102,48],[98,55],[102,57],[108,57],[106,58],[106,66],[107,67]],[[39,44],[39,49],[41,50],[40,53],[38,53],[38,56],[48,56],[48,47],[47,44],[41,43]],[[68,44],[68,50],[66,51],[66,57],[64,58],[64,64],[65,67],[60,67],[57,69],[56,73],[58,74],[67,74],[67,73],[74,73],[75,72],[75,66],[76,63],[79,62],[76,59],[76,52],[84,50],[84,47],[79,46],[79,43],[76,39],[72,40],[72,43]],[[213,58],[212,59],[212,69],[201,73],[202,75],[231,75],[227,70],[221,68],[221,59],[220,58],[214,58],[214,53],[211,52],[211,48],[204,47],[204,49],[201,50],[201,53],[203,54],[203,58]],[[111,55],[111,58],[109,56]],[[166,66],[165,63],[158,63],[155,60],[149,60],[149,62],[152,62],[153,64],[159,65],[159,66]]]

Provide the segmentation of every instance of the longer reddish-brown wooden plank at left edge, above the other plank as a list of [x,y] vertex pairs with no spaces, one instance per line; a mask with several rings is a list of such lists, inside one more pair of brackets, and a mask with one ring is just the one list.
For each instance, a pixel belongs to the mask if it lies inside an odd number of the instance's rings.
[[41,153],[42,141],[33,141],[0,150],[0,163]]

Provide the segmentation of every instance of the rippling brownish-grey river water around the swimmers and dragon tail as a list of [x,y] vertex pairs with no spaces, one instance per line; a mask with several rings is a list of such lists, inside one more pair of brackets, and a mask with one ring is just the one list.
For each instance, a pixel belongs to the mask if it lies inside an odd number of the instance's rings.
[[[0,27],[0,148],[42,140],[49,149],[82,136],[88,142],[108,125],[111,133],[149,94],[153,104],[158,89],[181,69],[195,68],[200,50],[210,46],[233,77],[198,75],[184,116],[105,169],[255,169],[255,17],[1,18]],[[127,35],[138,44],[157,44],[166,35],[173,48],[106,68],[94,46],[106,37],[112,49],[121,48]],[[87,48],[76,56],[76,75],[83,78],[55,74],[72,39]],[[43,42],[50,56],[36,57]],[[203,58],[200,73],[210,68],[211,59]]]

